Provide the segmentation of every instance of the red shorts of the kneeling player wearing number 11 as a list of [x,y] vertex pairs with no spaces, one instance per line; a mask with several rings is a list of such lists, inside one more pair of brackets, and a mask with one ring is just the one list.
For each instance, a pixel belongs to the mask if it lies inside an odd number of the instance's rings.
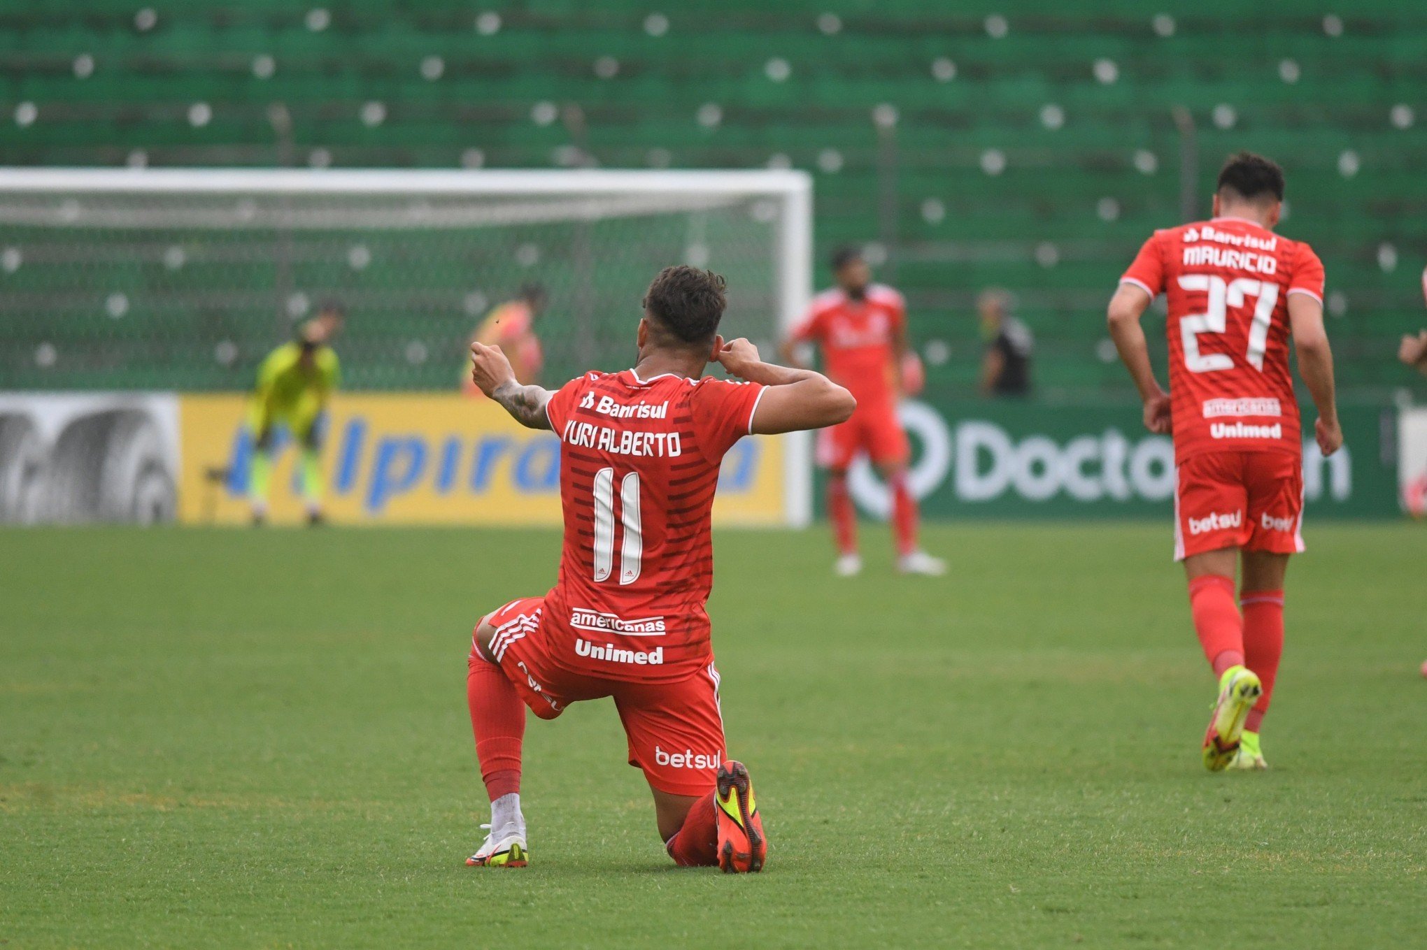
[[[718,670],[709,663],[672,683],[635,683],[571,672],[549,659],[542,635],[545,598],[511,601],[489,615],[491,652],[515,690],[541,719],[555,719],[569,703],[611,696],[629,743],[629,765],[669,795],[704,795],[723,762],[723,716]],[[471,642],[472,663],[487,660]]]

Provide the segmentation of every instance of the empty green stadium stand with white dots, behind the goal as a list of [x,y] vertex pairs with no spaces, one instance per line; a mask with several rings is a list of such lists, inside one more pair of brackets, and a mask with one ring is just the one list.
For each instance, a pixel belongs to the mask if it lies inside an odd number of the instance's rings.
[[[1000,285],[1037,335],[1039,389],[1076,397],[1129,392],[1103,304],[1139,242],[1180,218],[1183,107],[1206,213],[1229,151],[1284,164],[1283,230],[1327,262],[1343,382],[1371,392],[1403,381],[1396,335],[1423,322],[1423,50],[1416,0],[1203,0],[1179,16],[1127,0],[13,3],[0,10],[0,163],[791,164],[816,178],[819,280],[836,244],[875,244],[935,357],[930,385],[970,391],[972,301]],[[892,214],[879,205],[889,170]],[[354,268],[342,242],[314,252],[331,260],[308,261],[294,292],[347,301],[351,385],[451,385],[448,361],[404,354],[418,338],[459,347],[468,274],[412,272],[390,254]],[[205,298],[203,254],[174,265],[156,240],[150,257],[78,267],[36,234],[0,235],[0,312],[46,301],[0,322],[0,385],[245,387],[288,297],[255,275],[247,298]],[[411,280],[430,308],[384,310],[381,290]],[[160,305],[153,288],[176,285],[204,304]],[[47,359],[46,345],[93,352]]]

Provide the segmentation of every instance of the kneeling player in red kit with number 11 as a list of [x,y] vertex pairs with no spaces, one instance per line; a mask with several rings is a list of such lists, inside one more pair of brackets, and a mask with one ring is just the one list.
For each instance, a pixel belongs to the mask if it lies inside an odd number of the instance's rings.
[[[746,339],[725,344],[723,307],[722,277],[665,268],[644,298],[635,367],[586,372],[554,392],[517,382],[499,347],[471,345],[475,385],[522,425],[559,436],[565,548],[554,589],[475,628],[467,699],[491,833],[468,864],[528,862],[525,706],[555,719],[572,702],[611,696],[669,856],[725,872],[763,866],[748,769],[723,756],[704,609],[709,512],[739,438],[833,425],[856,404],[818,372],[761,362]],[[709,362],[745,382],[702,377]]]

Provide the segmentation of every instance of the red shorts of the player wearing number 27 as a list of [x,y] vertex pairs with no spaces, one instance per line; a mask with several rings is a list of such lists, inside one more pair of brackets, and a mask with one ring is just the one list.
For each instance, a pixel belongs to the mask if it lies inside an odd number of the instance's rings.
[[1179,465],[1174,561],[1239,548],[1303,551],[1303,461],[1293,452],[1206,452]]

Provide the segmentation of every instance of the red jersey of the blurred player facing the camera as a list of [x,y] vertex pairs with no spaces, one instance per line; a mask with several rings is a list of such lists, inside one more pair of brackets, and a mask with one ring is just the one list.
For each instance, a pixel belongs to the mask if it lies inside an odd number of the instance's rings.
[[859,407],[876,405],[896,401],[895,342],[905,325],[906,302],[890,287],[872,284],[860,301],[833,288],[813,298],[793,339],[816,342],[828,375]]

